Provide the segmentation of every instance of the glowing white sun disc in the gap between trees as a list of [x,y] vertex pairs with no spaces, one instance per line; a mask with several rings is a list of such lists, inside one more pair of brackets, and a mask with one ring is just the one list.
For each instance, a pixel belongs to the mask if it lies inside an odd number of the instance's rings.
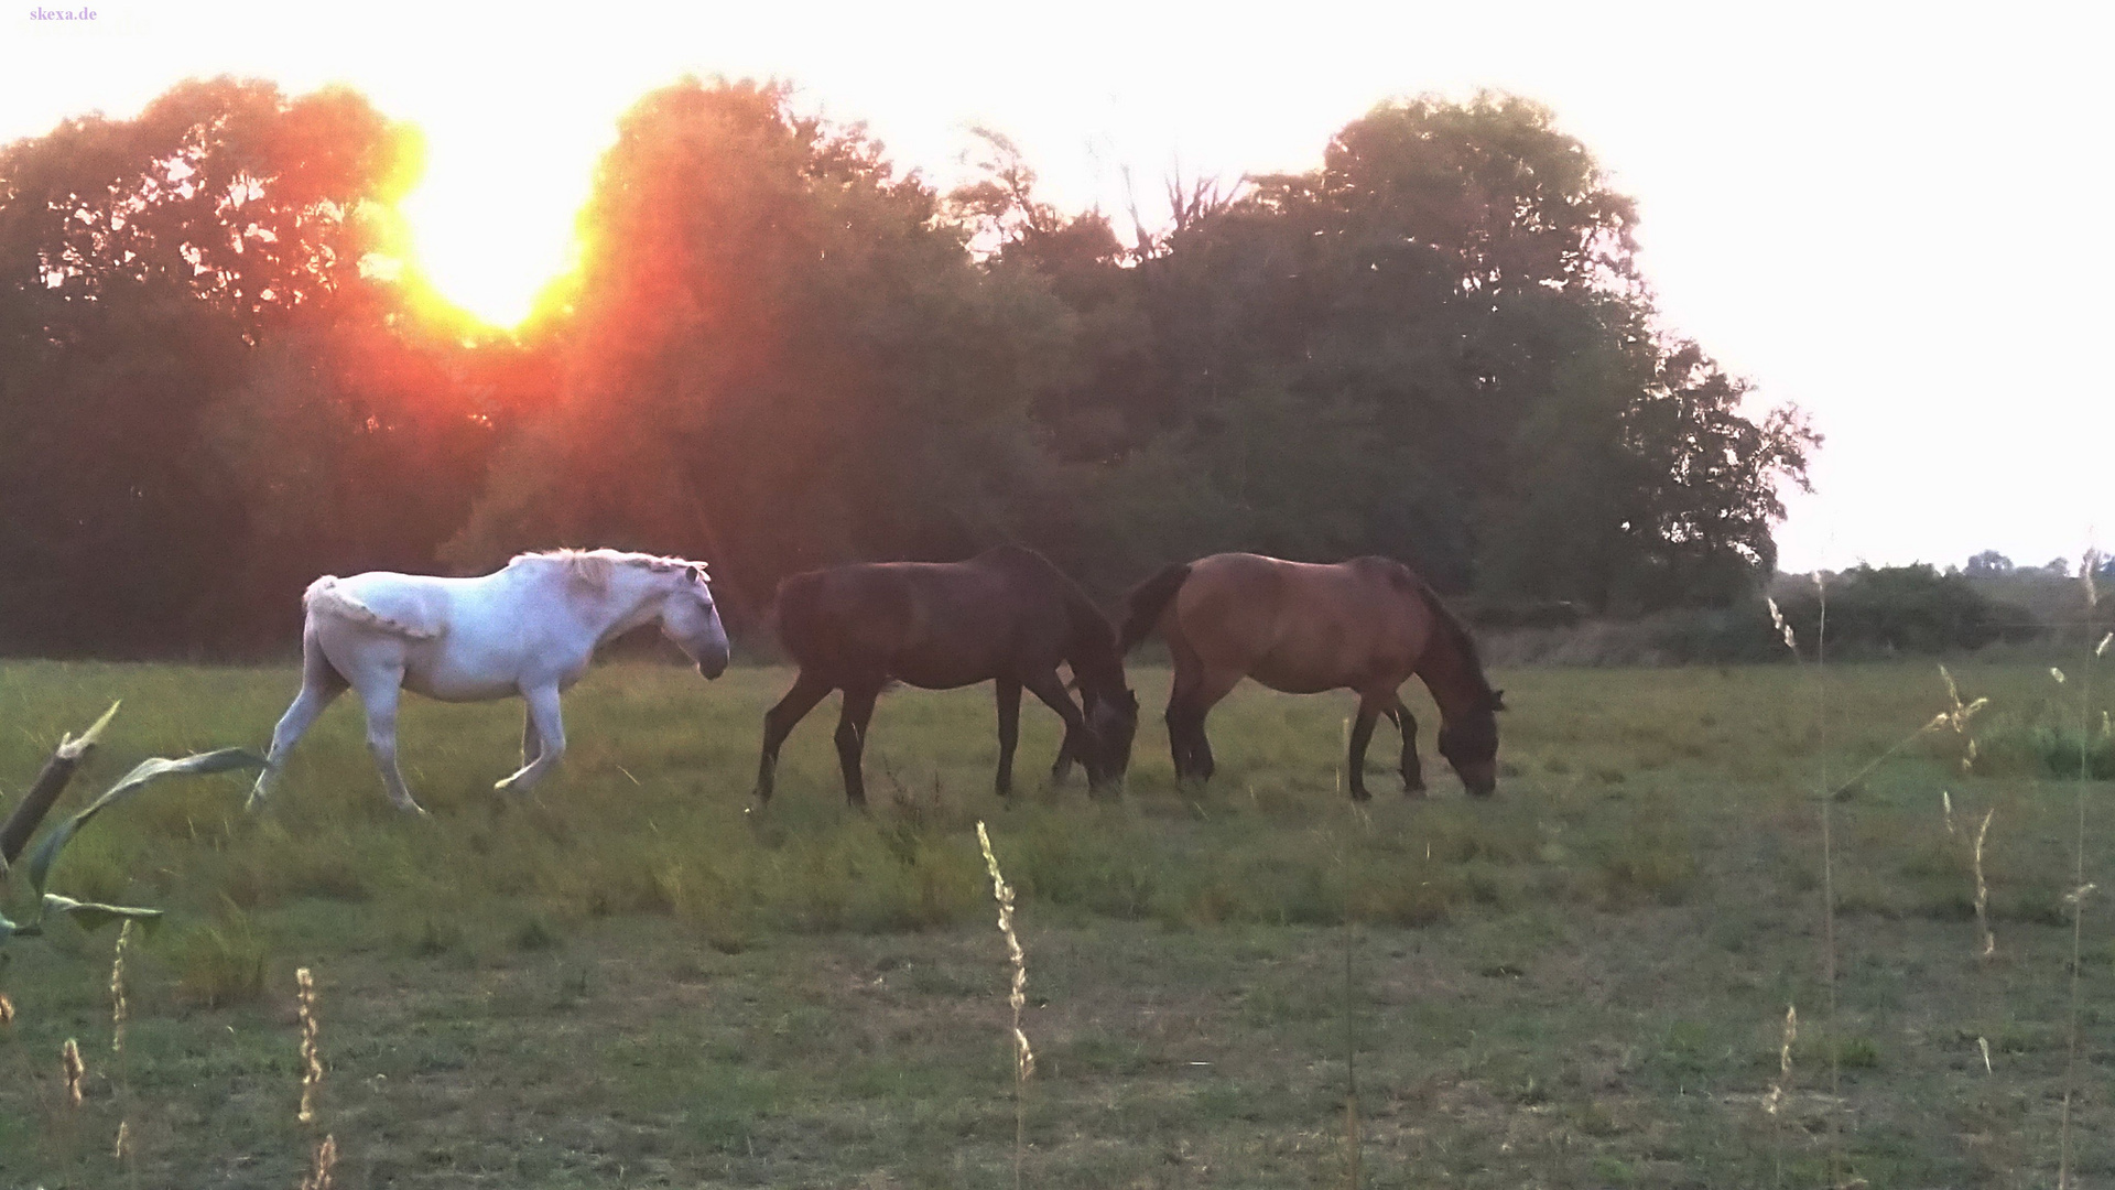
[[592,152],[573,159],[550,142],[491,131],[429,127],[425,178],[398,212],[410,260],[434,290],[491,326],[514,328],[573,265],[573,218],[594,163]]

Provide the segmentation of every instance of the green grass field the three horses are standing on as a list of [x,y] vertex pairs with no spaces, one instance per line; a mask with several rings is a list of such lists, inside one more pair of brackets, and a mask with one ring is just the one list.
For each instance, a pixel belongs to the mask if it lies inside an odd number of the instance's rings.
[[[1165,673],[1136,678],[1157,709]],[[1022,896],[1024,1184],[1347,1186],[1356,1052],[1362,1186],[2054,1186],[2081,794],[2047,756],[2075,756],[2083,667],[1956,678],[1992,699],[1980,773],[1933,733],[1832,805],[1834,1031],[1815,790],[1946,709],[1931,665],[1832,669],[1825,705],[1789,665],[1500,673],[1500,796],[1461,796],[1417,703],[1434,798],[1377,775],[1366,813],[1339,792],[1349,699],[1254,688],[1214,714],[1203,792],[1174,786],[1157,716],[1121,803],[1045,788],[1058,731],[1030,711],[1007,807],[990,690],[899,692],[869,737],[871,815],[844,807],[827,705],[751,813],[789,675],[624,663],[571,692],[571,754],[533,800],[491,792],[518,703],[410,703],[404,769],[434,811],[412,822],[347,699],[266,813],[241,813],[235,777],[169,783],[68,851],[57,889],[169,921],[133,946],[123,1067],[114,934],[8,946],[0,1186],[294,1186],[326,1131],[351,1188],[1009,1184],[1009,970],[977,819]],[[0,665],[0,794],[110,699],[72,803],[142,756],[262,745],[294,686]],[[1383,728],[1373,769],[1392,756]],[[2102,885],[2109,792],[2083,786]],[[2107,1186],[2115,906],[2085,904],[2073,1177]],[[294,1118],[300,966],[328,1063],[313,1129]],[[89,1065],[78,1110],[66,1038]],[[112,1158],[121,1118],[135,1169]]]

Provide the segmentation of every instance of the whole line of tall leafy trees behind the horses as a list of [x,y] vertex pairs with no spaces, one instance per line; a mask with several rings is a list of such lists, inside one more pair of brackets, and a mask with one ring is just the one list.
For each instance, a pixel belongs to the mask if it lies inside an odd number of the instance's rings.
[[550,544],[711,559],[736,618],[996,540],[1104,595],[1220,548],[1616,612],[1772,572],[1819,438],[1662,328],[1546,108],[1383,104],[1129,241],[979,144],[939,193],[785,87],[654,91],[512,335],[406,258],[419,138],[355,91],[192,80],[6,146],[0,650],[271,650],[315,574]]

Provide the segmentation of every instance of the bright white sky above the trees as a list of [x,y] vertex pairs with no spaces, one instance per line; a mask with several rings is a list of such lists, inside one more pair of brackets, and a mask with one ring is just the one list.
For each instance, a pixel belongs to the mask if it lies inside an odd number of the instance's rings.
[[791,80],[941,182],[977,123],[1066,208],[1123,210],[1129,165],[1148,220],[1176,161],[1307,169],[1379,100],[1508,89],[1639,199],[1667,322],[1827,434],[1787,570],[2115,544],[2107,4],[89,6],[0,17],[0,138],[184,76],[351,83],[427,131],[419,254],[495,313],[563,267],[615,116],[685,72]]

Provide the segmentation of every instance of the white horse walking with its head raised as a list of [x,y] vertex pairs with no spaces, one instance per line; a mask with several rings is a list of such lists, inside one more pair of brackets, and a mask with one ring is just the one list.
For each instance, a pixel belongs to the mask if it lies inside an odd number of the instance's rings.
[[279,718],[250,807],[271,792],[288,752],[347,686],[368,711],[368,752],[389,800],[425,813],[396,760],[402,688],[446,703],[520,695],[522,767],[497,790],[527,790],[565,756],[558,692],[580,682],[603,642],[660,620],[698,673],[728,669],[728,633],[704,563],[622,551],[520,555],[482,578],[383,570],[324,576],[300,599],[300,695]]

